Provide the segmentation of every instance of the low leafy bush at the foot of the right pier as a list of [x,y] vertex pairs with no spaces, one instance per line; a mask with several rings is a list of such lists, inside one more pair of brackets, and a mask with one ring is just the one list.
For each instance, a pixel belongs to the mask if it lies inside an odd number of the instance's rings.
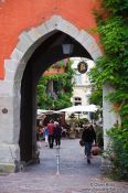
[[115,126],[107,133],[110,138],[107,156],[113,164],[113,178],[128,180],[128,129]]

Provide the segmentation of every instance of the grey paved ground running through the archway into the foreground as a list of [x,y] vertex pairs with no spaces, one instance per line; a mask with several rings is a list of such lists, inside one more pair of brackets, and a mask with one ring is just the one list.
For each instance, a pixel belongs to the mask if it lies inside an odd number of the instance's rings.
[[127,183],[100,176],[100,157],[93,157],[90,165],[86,163],[78,141],[62,140],[61,149],[40,142],[41,163],[1,175],[0,193],[127,193]]

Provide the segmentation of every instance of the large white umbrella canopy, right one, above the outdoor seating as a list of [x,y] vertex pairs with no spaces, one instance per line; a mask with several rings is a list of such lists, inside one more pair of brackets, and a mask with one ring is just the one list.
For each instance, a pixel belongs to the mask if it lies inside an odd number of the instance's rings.
[[96,105],[78,105],[68,108],[61,109],[58,111],[75,112],[75,111],[96,111],[98,107]]

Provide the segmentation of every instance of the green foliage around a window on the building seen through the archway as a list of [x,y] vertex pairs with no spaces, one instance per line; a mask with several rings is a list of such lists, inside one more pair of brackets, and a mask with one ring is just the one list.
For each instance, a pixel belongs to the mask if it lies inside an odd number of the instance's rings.
[[[58,64],[61,67],[65,65],[62,61],[58,62]],[[52,67],[55,66],[52,65]],[[65,73],[43,75],[38,84],[38,108],[58,110],[71,106],[74,85],[74,83],[72,83],[73,75],[74,69],[72,69],[72,61],[68,61]],[[56,97],[46,93],[46,86],[50,81],[57,82]]]

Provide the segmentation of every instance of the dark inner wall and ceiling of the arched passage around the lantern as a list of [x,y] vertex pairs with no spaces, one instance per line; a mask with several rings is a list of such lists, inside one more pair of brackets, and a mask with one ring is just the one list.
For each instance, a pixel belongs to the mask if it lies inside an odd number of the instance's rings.
[[54,31],[46,35],[45,41],[35,50],[23,73],[21,82],[21,109],[20,109],[20,157],[21,161],[36,161],[36,84],[43,72],[52,64],[67,55],[63,54],[62,44],[70,40],[74,49],[70,57],[87,57],[92,60],[88,52],[73,37],[61,31]]

